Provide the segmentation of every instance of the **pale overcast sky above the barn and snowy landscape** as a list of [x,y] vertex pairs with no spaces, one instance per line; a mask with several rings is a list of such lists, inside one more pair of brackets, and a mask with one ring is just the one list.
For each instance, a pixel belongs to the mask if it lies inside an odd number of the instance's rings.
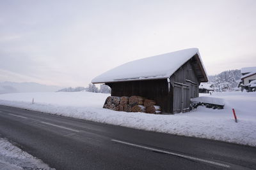
[[0,81],[86,86],[131,60],[199,48],[208,74],[256,66],[256,1],[1,1]]

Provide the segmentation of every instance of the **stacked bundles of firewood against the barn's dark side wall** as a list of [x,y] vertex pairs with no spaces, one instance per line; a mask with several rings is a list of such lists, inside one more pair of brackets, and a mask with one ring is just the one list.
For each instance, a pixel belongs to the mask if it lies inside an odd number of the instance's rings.
[[156,105],[156,101],[145,99],[140,96],[109,96],[106,99],[103,108],[126,112],[161,113],[161,107]]

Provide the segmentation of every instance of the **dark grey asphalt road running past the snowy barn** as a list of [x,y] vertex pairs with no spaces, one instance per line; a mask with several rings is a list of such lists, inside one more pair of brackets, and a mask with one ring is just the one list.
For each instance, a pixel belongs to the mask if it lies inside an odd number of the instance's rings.
[[0,134],[56,169],[256,169],[256,148],[0,106]]

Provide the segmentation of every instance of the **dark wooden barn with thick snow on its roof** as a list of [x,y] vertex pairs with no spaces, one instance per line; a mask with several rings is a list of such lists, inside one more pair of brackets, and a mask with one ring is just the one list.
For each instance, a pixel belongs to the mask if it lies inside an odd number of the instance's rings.
[[111,96],[141,96],[155,100],[163,113],[189,111],[190,99],[207,74],[197,48],[127,62],[100,74],[92,83],[111,87]]

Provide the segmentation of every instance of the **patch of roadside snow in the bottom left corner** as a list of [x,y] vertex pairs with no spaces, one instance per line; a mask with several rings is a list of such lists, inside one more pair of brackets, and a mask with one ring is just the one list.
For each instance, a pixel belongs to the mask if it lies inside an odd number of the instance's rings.
[[0,169],[52,169],[40,159],[0,137]]

